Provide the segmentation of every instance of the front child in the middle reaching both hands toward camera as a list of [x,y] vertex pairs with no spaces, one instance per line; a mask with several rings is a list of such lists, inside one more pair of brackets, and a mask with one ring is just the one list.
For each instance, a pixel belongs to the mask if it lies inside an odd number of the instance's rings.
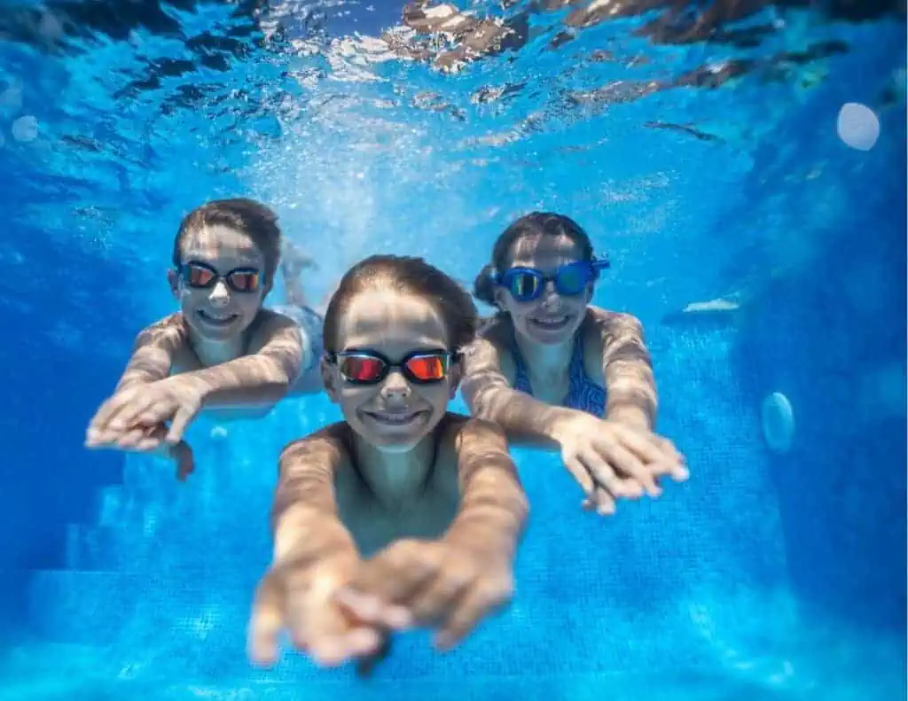
[[341,280],[321,371],[344,420],[281,454],[253,660],[273,662],[284,629],[324,666],[378,654],[389,629],[439,627],[450,647],[511,596],[527,499],[502,430],[447,410],[476,321],[418,258]]

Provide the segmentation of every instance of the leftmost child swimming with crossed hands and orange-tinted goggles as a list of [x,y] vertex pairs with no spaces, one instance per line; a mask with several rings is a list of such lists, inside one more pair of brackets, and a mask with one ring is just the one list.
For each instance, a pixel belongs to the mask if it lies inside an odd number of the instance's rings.
[[312,391],[321,325],[262,307],[280,253],[277,216],[260,202],[219,200],[190,212],[168,272],[181,309],[138,335],[86,446],[170,455],[185,477],[193,466],[183,433],[200,411],[261,415],[288,393]]

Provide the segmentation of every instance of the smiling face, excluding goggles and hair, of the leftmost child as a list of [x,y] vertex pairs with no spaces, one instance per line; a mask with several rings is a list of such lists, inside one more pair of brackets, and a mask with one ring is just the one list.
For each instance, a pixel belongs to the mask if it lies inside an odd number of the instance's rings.
[[[173,295],[183,311],[183,317],[192,331],[209,341],[229,341],[245,331],[262,308],[268,288],[262,283],[265,260],[262,252],[245,233],[222,224],[200,227],[183,237],[182,262],[199,263],[200,271],[210,268],[219,275],[209,287],[193,287],[176,272],[170,272]],[[234,289],[227,279],[239,287],[248,287],[252,279],[243,269],[259,271],[258,289]],[[205,280],[203,272],[198,280]]]

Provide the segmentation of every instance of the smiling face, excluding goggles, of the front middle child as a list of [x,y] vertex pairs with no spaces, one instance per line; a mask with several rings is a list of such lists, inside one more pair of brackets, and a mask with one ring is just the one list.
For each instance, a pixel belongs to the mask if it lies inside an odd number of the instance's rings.
[[[362,293],[350,301],[339,321],[338,352],[370,350],[400,363],[416,351],[448,349],[441,315],[420,297],[393,291]],[[346,380],[339,364],[340,360],[322,362],[329,397],[341,406],[350,428],[384,452],[406,452],[416,446],[438,425],[457,390],[453,361],[447,376],[437,382],[410,380],[394,367],[371,385]]]

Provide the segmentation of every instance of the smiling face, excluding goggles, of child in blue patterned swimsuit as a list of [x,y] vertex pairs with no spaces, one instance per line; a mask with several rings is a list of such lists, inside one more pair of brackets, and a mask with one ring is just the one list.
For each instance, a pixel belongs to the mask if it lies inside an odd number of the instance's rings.
[[[525,236],[514,243],[509,267],[532,268],[551,277],[562,265],[581,260],[579,247],[568,236]],[[567,296],[558,294],[554,281],[547,281],[542,294],[531,301],[515,300],[503,287],[495,294],[522,337],[556,345],[568,341],[580,328],[593,296],[593,284],[587,284],[580,294]]]

